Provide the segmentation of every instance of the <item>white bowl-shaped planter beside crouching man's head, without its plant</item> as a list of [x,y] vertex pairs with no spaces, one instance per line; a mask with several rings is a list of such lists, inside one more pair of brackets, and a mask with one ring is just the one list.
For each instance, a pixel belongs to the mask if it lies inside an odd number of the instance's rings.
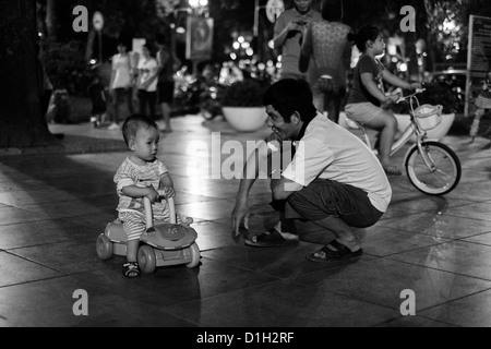
[[267,120],[264,107],[224,107],[225,120],[239,132],[254,132],[262,128]]

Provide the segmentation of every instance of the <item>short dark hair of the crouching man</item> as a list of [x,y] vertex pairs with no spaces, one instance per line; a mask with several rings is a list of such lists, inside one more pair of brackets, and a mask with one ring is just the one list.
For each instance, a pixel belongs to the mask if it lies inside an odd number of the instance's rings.
[[291,122],[291,116],[296,111],[302,121],[309,122],[318,113],[312,100],[312,91],[307,81],[284,79],[266,91],[263,105],[273,106],[286,122]]

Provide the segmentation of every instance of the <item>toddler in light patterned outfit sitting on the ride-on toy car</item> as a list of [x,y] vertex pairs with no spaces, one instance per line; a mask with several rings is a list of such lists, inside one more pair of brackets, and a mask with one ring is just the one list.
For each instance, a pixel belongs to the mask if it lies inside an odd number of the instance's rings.
[[173,197],[176,192],[166,166],[156,157],[159,141],[157,124],[135,115],[127,119],[122,133],[132,152],[115,174],[119,196],[118,219],[128,234],[128,261],[123,264],[123,275],[137,277],[140,237],[146,229],[143,198],[149,198],[155,219],[169,221],[168,203],[163,196]]

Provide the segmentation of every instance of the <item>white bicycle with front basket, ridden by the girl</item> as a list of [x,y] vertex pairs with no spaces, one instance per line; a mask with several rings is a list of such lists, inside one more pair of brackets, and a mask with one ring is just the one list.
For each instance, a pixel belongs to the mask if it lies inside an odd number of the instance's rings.
[[[397,153],[415,135],[416,143],[404,158],[409,181],[419,191],[428,195],[444,195],[453,191],[460,181],[460,160],[454,151],[438,141],[428,140],[427,131],[436,128],[442,122],[442,106],[419,105],[416,97],[424,89],[399,98],[397,103],[409,103],[410,123],[393,144],[391,156]],[[417,108],[415,109],[415,106]],[[372,147],[370,137],[361,124],[346,118],[348,127],[362,132],[364,142]]]

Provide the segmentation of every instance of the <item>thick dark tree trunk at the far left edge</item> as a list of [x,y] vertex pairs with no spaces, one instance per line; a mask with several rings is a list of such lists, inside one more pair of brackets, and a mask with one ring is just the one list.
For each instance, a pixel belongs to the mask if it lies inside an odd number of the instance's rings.
[[36,2],[0,0],[0,148],[56,144],[41,116]]

